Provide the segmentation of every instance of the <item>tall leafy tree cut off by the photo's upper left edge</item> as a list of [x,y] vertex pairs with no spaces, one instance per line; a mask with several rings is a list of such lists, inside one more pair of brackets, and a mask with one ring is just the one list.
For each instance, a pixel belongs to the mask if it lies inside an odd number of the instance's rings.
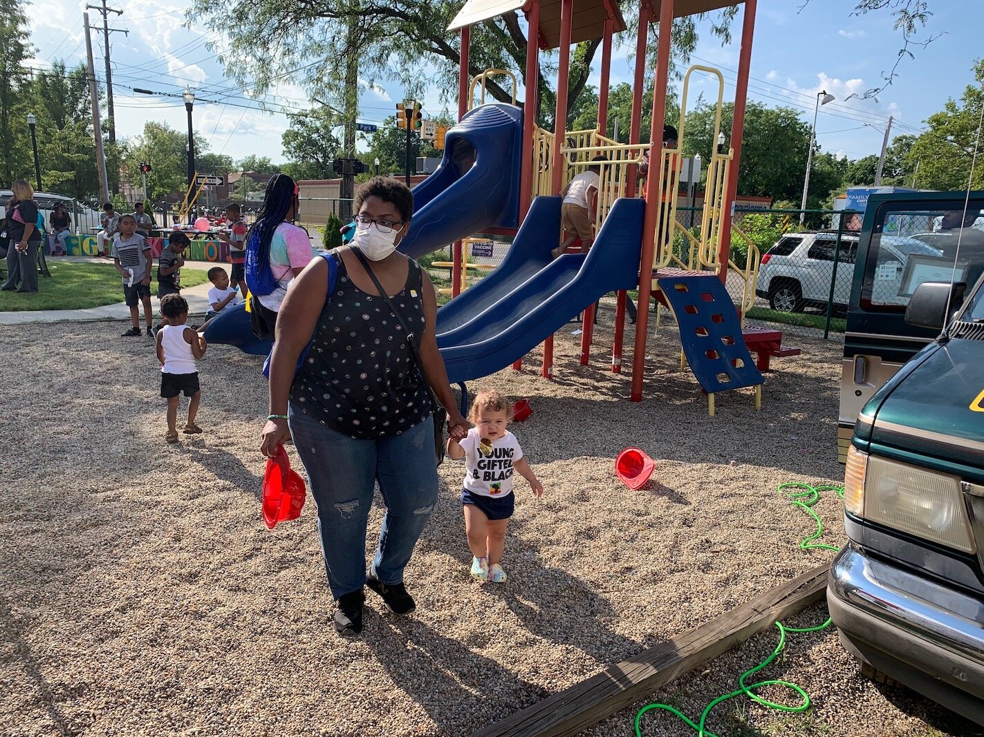
[[27,40],[26,7],[21,0],[0,0],[0,166],[4,187],[10,187],[15,179],[31,178],[32,171],[31,141],[24,123],[29,88],[24,62],[34,49]]

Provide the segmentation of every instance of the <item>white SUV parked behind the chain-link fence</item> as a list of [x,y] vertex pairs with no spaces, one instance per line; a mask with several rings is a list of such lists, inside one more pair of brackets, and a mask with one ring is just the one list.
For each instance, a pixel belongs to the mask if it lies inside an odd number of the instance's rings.
[[[911,254],[939,256],[941,253],[912,238],[883,234],[879,237],[886,252],[894,257],[899,266]],[[755,293],[769,300],[769,307],[776,312],[803,312],[807,308],[827,307],[831,300],[832,281],[833,307],[843,311],[851,296],[857,247],[856,233],[841,233],[839,249],[836,231],[784,235],[762,256]],[[898,271],[897,278],[900,279],[901,269]]]

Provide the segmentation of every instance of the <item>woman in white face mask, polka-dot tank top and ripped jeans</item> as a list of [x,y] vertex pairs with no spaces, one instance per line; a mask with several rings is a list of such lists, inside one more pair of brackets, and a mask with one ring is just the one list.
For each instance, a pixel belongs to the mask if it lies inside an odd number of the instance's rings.
[[[318,504],[325,568],[338,601],[335,628],[362,631],[363,587],[396,614],[413,611],[403,568],[437,501],[434,425],[427,384],[446,408],[451,434],[467,422],[455,406],[435,334],[437,300],[427,273],[397,253],[413,196],[395,179],[376,178],[355,193],[355,235],[329,264],[315,258],[280,307],[270,366],[270,417],[261,449],[273,456],[292,435]],[[380,295],[359,255],[379,280],[417,347],[417,368],[400,319]],[[250,285],[252,288],[252,285]],[[312,341],[301,369],[301,351]],[[289,423],[289,430],[288,430]],[[373,486],[386,505],[379,545],[365,567]]]

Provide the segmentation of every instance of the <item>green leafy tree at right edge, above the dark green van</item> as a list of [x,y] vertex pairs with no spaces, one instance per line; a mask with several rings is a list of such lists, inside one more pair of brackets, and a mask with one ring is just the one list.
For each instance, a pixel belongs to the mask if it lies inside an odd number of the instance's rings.
[[[967,85],[960,101],[947,100],[944,109],[929,116],[929,130],[903,154],[909,172],[919,167],[918,184],[934,190],[963,190],[970,178],[977,126],[984,105],[984,59],[973,66],[976,85]],[[978,154],[979,155],[979,154]],[[984,166],[974,167],[971,189],[984,188]]]

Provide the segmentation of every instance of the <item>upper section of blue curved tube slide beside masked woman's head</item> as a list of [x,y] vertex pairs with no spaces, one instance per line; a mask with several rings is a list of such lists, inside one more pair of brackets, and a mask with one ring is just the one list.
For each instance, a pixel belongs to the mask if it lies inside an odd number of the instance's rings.
[[445,136],[437,171],[413,188],[413,220],[400,252],[419,258],[520,216],[523,110],[492,103],[470,110]]

